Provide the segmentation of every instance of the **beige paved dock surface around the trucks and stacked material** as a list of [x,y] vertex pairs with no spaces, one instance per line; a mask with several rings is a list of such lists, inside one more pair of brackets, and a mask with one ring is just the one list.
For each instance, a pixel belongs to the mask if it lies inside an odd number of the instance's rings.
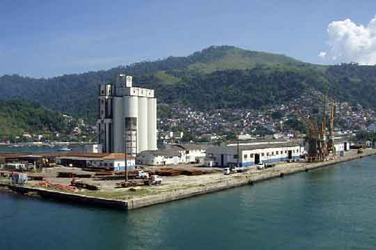
[[[221,171],[206,175],[179,175],[174,177],[164,177],[163,185],[157,186],[140,186],[135,188],[117,188],[116,183],[119,180],[93,180],[85,179],[88,182],[101,185],[100,191],[79,191],[75,193],[61,192],[59,190],[49,190],[36,186],[38,181],[29,182],[23,189],[30,189],[33,192],[41,190],[42,193],[48,196],[49,192],[56,196],[56,198],[67,198],[75,201],[82,201],[83,203],[93,203],[100,205],[103,202],[105,205],[111,207],[120,205],[120,208],[133,210],[136,208],[143,208],[148,205],[155,205],[157,203],[164,203],[174,201],[182,198],[188,198],[200,194],[207,194],[217,192],[219,190],[247,185],[254,182],[268,180],[270,178],[279,178],[282,175],[292,173],[299,173],[311,169],[317,169],[323,166],[330,166],[339,162],[345,162],[360,157],[375,155],[376,150],[366,149],[363,154],[357,154],[357,150],[350,150],[344,157],[331,159],[327,162],[318,162],[308,164],[306,162],[292,162],[277,164],[273,168],[257,170],[251,169],[245,173],[234,173],[231,175],[224,175]],[[63,170],[79,171],[79,169],[60,169],[57,168],[53,171]],[[71,178],[56,178],[55,173],[47,172],[45,177],[51,182],[68,185]],[[25,190],[24,190],[25,191]],[[77,196],[75,198],[75,196]]]

